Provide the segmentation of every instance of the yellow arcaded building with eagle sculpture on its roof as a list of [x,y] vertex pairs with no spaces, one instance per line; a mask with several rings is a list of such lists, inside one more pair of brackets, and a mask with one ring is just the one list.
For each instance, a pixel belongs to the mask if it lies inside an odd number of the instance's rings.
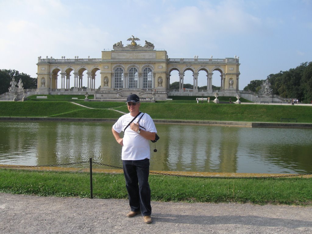
[[[129,42],[128,42],[129,41]],[[119,41],[113,50],[102,51],[101,58],[61,59],[38,57],[38,88],[36,94],[94,94],[94,99],[125,99],[136,93],[142,99],[154,95],[165,100],[171,95],[236,96],[239,94],[239,58],[191,59],[169,58],[167,51],[155,49],[154,44],[130,37],[129,44]],[[179,89],[170,90],[170,73],[178,71]],[[184,73],[193,73],[193,90],[183,89]],[[206,73],[207,90],[198,90],[198,74]],[[212,90],[212,73],[220,72],[221,90]],[[82,80],[87,88],[82,89]],[[95,87],[100,79],[100,88]],[[215,81],[214,81],[215,82]],[[74,88],[71,88],[74,87]]]

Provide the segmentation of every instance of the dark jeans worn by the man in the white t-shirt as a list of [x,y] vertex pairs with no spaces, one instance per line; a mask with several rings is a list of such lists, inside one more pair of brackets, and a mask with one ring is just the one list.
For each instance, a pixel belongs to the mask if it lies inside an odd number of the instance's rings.
[[149,188],[149,159],[123,160],[124,178],[132,211],[141,210],[143,216],[151,215],[151,189]]

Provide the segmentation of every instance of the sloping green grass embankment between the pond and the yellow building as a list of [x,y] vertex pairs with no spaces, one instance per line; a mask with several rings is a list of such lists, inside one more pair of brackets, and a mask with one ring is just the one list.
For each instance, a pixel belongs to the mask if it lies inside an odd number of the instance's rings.
[[[128,112],[123,102],[85,102],[83,99],[54,100],[48,98],[14,103],[0,102],[0,116],[117,119],[122,114],[109,110],[110,108]],[[87,109],[69,101],[95,109]],[[298,123],[312,123],[312,108],[300,105],[229,105],[213,102],[208,104],[207,101],[197,104],[195,100],[172,100],[157,103],[143,102],[140,109],[149,113],[153,119],[280,122],[281,118],[295,118]]]

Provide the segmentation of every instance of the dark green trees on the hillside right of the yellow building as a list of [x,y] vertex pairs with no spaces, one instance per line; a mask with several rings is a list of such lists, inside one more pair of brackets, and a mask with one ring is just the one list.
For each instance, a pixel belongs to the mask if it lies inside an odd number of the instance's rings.
[[[312,100],[312,62],[301,63],[288,71],[271,74],[267,79],[271,83],[273,94],[285,99],[295,98],[303,103],[310,103]],[[264,81],[251,80],[244,90],[259,93]]]

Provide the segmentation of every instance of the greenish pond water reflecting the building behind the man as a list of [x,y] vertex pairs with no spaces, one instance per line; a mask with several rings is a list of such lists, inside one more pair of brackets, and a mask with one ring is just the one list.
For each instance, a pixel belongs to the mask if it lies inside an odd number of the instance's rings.
[[[94,161],[121,166],[113,123],[0,122],[0,164]],[[156,124],[151,170],[230,173],[312,173],[311,129]],[[87,167],[88,165],[75,165]],[[97,166],[98,168],[107,168]]]

